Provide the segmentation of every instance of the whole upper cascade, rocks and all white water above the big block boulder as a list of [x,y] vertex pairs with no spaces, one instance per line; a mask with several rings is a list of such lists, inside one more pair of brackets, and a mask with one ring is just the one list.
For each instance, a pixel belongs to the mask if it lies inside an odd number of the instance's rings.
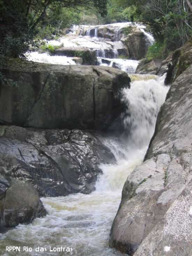
[[135,73],[138,60],[145,57],[148,46],[154,43],[153,36],[145,28],[145,25],[135,22],[72,25],[63,30],[60,38],[45,40],[47,45],[54,46],[54,51],[50,54],[42,53],[42,50],[32,52],[28,59],[61,65],[109,66]]

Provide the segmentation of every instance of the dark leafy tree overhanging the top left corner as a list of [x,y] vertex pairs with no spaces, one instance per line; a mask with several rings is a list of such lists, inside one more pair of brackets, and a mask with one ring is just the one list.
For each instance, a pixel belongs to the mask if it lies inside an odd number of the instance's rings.
[[[106,14],[107,0],[0,0],[1,53],[8,57],[24,57],[37,34],[37,26],[44,22],[47,12],[62,8],[96,8]],[[55,16],[57,17],[57,15]],[[47,21],[49,22],[49,21]]]

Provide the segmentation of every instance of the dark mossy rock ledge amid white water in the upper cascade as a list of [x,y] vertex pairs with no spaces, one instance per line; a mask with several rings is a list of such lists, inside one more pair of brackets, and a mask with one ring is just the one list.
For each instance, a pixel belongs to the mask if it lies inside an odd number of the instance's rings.
[[53,55],[67,57],[81,57],[82,65],[96,65],[96,52],[85,47],[60,47],[53,52]]

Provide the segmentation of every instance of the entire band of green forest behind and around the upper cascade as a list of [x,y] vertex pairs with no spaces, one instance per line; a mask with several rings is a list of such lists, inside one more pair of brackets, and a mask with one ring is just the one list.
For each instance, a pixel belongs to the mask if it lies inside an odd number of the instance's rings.
[[156,39],[149,49],[160,57],[184,44],[192,35],[190,0],[0,0],[1,64],[22,57],[34,39],[58,36],[72,24],[142,22]]

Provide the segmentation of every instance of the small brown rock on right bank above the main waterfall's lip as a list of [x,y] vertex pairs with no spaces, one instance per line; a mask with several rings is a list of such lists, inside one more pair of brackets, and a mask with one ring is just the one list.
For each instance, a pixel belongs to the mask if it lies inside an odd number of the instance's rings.
[[136,68],[136,74],[151,74],[156,75],[160,68],[161,61],[159,60],[148,60],[146,58],[141,59],[139,65]]

